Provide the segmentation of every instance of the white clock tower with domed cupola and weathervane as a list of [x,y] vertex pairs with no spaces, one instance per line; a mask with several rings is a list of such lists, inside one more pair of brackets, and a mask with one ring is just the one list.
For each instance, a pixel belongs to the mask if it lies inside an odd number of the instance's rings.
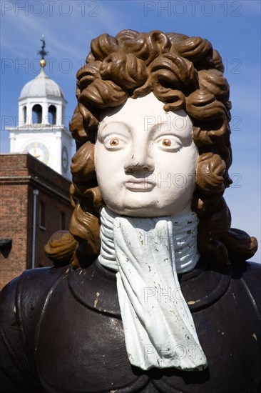
[[10,153],[27,152],[71,180],[73,139],[64,124],[67,101],[61,87],[44,71],[44,36],[41,41],[41,71],[21,89],[18,126],[6,128],[10,131]]

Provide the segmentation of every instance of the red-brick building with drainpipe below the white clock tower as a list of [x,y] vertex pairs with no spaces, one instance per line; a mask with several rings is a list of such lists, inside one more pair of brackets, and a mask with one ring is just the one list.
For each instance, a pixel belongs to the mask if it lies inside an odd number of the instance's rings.
[[69,186],[31,154],[0,155],[0,289],[24,269],[51,265],[44,245],[68,229]]

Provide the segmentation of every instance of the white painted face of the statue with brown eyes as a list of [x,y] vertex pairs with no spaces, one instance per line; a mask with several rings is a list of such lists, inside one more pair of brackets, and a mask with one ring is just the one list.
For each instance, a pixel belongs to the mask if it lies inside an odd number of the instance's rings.
[[165,112],[153,93],[103,112],[96,141],[101,196],[133,217],[190,211],[198,149],[185,111]]

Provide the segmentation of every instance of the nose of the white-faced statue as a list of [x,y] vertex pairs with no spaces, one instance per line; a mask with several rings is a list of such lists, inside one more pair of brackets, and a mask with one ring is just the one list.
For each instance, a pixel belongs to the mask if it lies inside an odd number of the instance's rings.
[[126,157],[124,164],[126,172],[153,171],[154,161],[150,156],[147,146],[135,146]]

